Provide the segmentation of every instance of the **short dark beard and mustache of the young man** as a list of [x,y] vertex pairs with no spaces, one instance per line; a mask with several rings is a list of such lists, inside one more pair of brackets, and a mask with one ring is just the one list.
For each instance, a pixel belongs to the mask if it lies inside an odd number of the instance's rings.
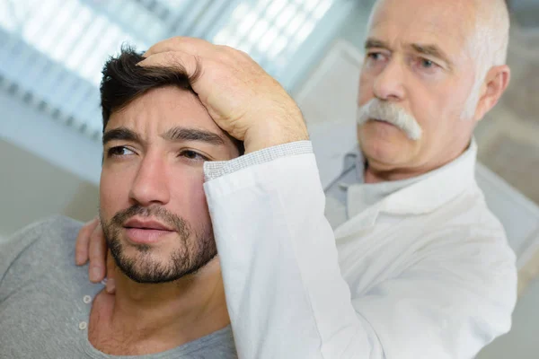
[[[180,248],[170,254],[166,265],[151,259],[152,247],[145,244],[135,245],[138,255],[128,258],[124,252],[123,244],[119,239],[123,223],[134,216],[154,217],[172,227],[179,235]],[[101,217],[101,216],[100,216]],[[160,206],[143,207],[134,205],[126,210],[119,211],[105,223],[101,219],[105,239],[116,266],[129,278],[137,283],[158,284],[172,282],[183,276],[189,276],[204,267],[216,257],[216,241],[211,226],[197,232],[191,238],[190,225],[183,218],[173,215]]]

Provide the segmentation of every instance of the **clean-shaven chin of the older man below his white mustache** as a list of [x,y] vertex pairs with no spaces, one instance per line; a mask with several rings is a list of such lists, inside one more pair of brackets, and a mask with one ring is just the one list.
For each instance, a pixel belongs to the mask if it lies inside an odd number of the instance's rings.
[[420,145],[420,141],[411,140],[399,127],[376,120],[358,125],[358,142],[369,162],[388,166],[408,162]]

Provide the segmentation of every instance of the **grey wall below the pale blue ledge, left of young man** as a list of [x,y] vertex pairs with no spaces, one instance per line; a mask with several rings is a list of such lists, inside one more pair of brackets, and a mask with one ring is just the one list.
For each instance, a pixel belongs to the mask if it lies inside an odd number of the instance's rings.
[[3,140],[0,171],[0,238],[49,215],[97,215],[95,184]]

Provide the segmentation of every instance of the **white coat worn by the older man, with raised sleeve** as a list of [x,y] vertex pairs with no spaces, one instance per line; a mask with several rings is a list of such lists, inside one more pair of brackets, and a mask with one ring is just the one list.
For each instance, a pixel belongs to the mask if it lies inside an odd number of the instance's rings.
[[335,232],[310,142],[207,162],[238,355],[461,359],[508,332],[515,255],[471,153]]

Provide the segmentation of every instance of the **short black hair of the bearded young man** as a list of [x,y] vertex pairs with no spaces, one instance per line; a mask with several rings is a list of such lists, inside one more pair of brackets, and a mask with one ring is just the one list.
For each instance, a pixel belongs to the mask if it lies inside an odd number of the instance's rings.
[[[124,109],[129,103],[152,89],[175,86],[196,94],[191,83],[197,81],[200,68],[197,68],[195,74],[189,76],[181,70],[180,65],[175,67],[137,66],[144,59],[145,57],[135,48],[124,46],[121,48],[119,57],[110,57],[103,66],[100,86],[103,133],[112,112]],[[240,155],[243,155],[245,152],[243,142],[230,138],[237,146]]]

